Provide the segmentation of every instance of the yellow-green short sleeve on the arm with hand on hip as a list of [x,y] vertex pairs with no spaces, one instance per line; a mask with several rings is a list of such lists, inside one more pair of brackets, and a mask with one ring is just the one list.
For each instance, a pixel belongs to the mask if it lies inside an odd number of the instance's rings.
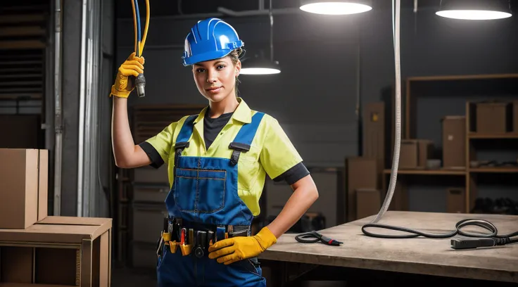
[[302,162],[302,158],[277,120],[272,118],[268,125],[260,162],[268,176],[274,179]]

